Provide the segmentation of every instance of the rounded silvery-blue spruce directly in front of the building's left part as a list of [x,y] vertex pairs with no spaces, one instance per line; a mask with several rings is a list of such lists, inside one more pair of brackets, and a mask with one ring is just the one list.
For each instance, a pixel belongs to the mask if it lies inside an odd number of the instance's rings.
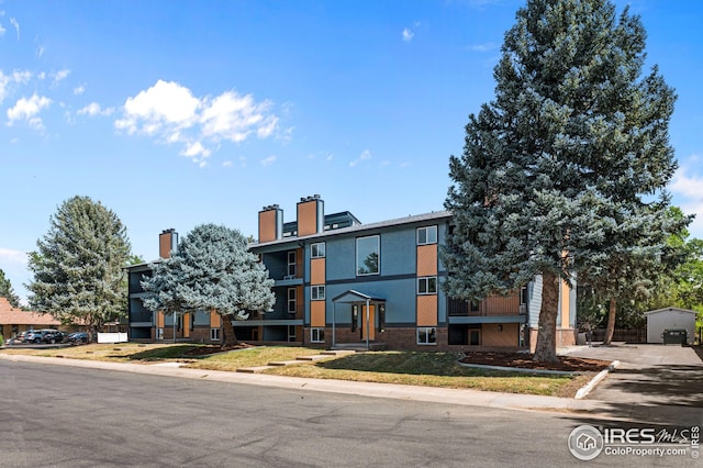
[[[215,224],[193,229],[170,258],[153,265],[142,281],[153,296],[144,307],[167,314],[214,310],[222,316],[223,345],[235,343],[232,319],[265,312],[275,303],[274,280],[238,231]],[[230,326],[227,326],[227,324]]]

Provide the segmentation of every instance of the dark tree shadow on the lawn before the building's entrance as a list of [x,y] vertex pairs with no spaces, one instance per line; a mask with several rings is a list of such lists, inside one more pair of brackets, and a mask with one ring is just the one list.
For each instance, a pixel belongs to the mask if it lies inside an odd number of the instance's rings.
[[456,353],[364,353],[317,363],[323,369],[356,370],[384,374],[440,377],[544,377],[563,379],[563,376],[538,372],[503,371],[462,367]]

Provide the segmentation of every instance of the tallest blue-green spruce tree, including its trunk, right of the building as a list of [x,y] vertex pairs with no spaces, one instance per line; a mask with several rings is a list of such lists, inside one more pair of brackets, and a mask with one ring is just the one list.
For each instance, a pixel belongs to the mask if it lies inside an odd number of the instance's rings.
[[540,276],[538,360],[557,359],[560,281],[607,276],[616,243],[657,252],[641,233],[665,225],[676,97],[656,67],[641,76],[645,36],[606,0],[529,0],[505,34],[495,100],[469,116],[464,155],[450,158],[447,292]]

